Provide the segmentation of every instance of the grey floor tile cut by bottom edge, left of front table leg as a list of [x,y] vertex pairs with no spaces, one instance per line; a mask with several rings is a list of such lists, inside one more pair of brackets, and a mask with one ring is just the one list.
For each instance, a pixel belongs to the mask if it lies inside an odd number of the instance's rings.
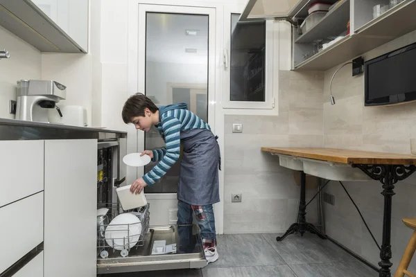
[[361,262],[289,265],[297,277],[378,277],[379,273]]

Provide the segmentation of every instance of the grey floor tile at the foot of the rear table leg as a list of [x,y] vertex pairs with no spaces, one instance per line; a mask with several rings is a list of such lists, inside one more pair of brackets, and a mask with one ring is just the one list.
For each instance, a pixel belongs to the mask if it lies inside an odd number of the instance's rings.
[[263,234],[281,258],[288,264],[310,264],[322,262],[355,262],[356,259],[329,240],[321,240],[311,233],[288,235],[277,242],[277,233]]

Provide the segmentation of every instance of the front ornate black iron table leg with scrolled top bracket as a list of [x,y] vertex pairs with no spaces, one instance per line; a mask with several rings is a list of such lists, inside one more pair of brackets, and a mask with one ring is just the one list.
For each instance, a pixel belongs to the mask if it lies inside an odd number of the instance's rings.
[[416,166],[397,166],[397,165],[352,165],[360,168],[363,172],[374,180],[379,180],[383,184],[384,211],[383,211],[383,241],[381,244],[379,262],[379,277],[390,277],[390,267],[392,267],[392,249],[390,245],[392,229],[392,197],[397,181],[409,177],[416,171]]

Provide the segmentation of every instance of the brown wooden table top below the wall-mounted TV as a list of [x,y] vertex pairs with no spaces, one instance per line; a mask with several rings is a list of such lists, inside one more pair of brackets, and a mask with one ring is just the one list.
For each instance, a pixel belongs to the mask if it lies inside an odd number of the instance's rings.
[[416,165],[416,156],[336,148],[268,148],[261,151],[336,163]]

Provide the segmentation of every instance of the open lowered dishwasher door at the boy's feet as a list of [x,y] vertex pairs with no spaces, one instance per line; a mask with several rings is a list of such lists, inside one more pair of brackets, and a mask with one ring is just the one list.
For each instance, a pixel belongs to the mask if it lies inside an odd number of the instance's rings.
[[[163,253],[163,245],[172,244],[176,246],[173,251]],[[155,253],[158,249],[160,252]],[[143,245],[132,247],[128,256],[123,257],[121,251],[114,249],[109,252],[107,258],[98,254],[97,274],[202,268],[207,265],[196,224],[150,226],[144,235]]]

